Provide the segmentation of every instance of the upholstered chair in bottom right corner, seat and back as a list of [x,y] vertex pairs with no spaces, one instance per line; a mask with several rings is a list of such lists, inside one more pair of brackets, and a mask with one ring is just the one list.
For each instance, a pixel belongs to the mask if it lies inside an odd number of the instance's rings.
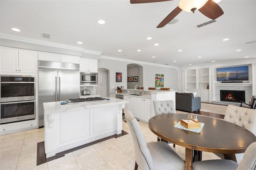
[[193,170],[256,170],[256,142],[249,145],[241,162],[233,160],[203,160],[192,163]]

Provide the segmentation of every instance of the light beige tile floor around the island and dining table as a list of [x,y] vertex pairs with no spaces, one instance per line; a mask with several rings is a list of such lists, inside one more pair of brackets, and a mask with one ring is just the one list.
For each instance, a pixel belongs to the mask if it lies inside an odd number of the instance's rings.
[[[148,124],[139,121],[147,142],[157,137],[148,128]],[[68,153],[65,156],[36,166],[37,143],[44,141],[44,129],[32,129],[0,136],[1,170],[133,170],[135,164],[134,146],[127,123],[123,130],[128,132],[118,138],[112,138]],[[173,147],[172,144],[170,144]],[[176,152],[185,160],[185,149],[176,145]],[[218,159],[218,156],[203,152],[202,160]],[[140,169],[140,168],[139,168]]]

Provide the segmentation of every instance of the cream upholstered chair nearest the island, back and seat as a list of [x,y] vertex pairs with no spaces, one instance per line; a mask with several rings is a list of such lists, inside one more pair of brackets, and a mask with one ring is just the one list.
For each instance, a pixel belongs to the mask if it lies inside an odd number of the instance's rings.
[[165,142],[149,142],[140,129],[138,121],[132,112],[124,110],[124,116],[129,126],[135,152],[135,168],[142,170],[184,170],[185,163],[182,158]]

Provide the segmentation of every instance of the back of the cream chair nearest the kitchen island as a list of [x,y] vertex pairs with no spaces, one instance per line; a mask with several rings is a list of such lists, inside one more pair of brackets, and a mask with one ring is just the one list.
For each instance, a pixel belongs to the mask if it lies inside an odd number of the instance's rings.
[[153,158],[138,121],[129,110],[124,110],[124,116],[132,135],[136,163],[142,170],[153,169]]

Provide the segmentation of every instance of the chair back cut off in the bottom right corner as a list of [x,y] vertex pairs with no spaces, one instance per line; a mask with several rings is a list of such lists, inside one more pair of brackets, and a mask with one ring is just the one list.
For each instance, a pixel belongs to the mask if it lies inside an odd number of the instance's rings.
[[256,170],[256,142],[249,145],[236,170]]

